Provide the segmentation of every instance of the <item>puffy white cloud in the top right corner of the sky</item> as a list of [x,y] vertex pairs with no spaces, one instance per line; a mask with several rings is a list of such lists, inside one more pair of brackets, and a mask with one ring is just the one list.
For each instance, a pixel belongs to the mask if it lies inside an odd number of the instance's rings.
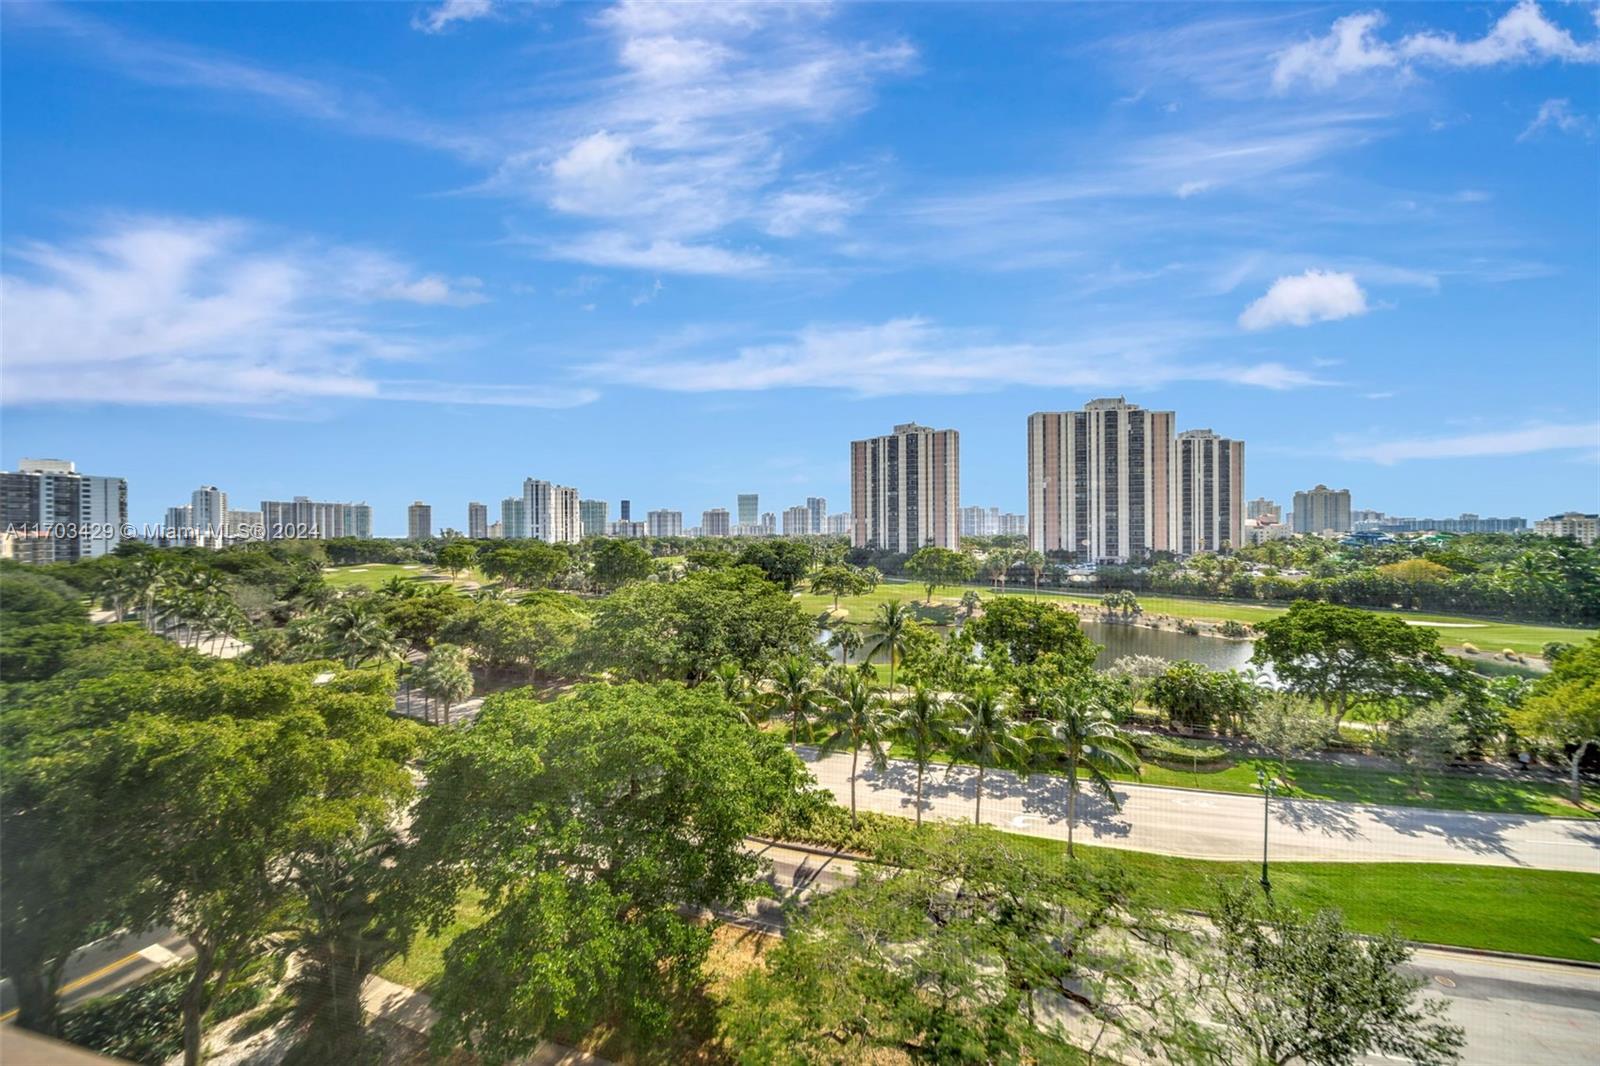
[[1546,18],[1536,0],[1518,0],[1477,40],[1427,30],[1386,42],[1379,11],[1347,14],[1323,37],[1299,42],[1277,56],[1272,85],[1280,93],[1306,82],[1330,88],[1339,80],[1381,69],[1405,70],[1410,64],[1446,67],[1494,67],[1536,62],[1600,62],[1600,43],[1578,42],[1570,30]]

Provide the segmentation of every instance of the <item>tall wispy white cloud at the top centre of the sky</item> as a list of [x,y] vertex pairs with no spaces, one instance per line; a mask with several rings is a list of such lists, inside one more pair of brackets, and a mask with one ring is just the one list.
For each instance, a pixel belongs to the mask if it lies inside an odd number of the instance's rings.
[[594,21],[619,72],[579,86],[584,102],[507,154],[483,189],[597,222],[552,245],[562,258],[597,251],[584,259],[597,266],[750,274],[771,258],[718,251],[728,230],[837,234],[856,197],[797,187],[786,158],[808,130],[866,107],[914,51],[834,38],[830,16],[827,5],[606,8]]

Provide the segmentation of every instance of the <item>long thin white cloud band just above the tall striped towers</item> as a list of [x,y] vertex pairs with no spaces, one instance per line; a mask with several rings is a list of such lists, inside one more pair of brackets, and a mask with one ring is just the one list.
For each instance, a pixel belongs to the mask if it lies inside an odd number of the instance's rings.
[[[1282,363],[1218,363],[1189,352],[1181,323],[1085,330],[1070,341],[995,343],[942,330],[923,319],[877,325],[813,325],[792,336],[702,355],[683,344],[624,352],[579,367],[619,384],[672,392],[837,389],[858,395],[963,394],[1011,386],[1154,387],[1171,381],[1224,381],[1262,389],[1325,384]],[[690,343],[688,347],[698,347]]]

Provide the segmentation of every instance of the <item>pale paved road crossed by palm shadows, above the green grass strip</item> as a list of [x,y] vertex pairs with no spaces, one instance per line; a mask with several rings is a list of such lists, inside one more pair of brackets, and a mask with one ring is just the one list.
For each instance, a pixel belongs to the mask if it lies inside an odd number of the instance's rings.
[[[850,754],[800,751],[816,779],[850,804]],[[976,770],[931,767],[923,810],[973,816]],[[862,767],[862,810],[912,816],[917,770],[891,760],[882,773]],[[1075,839],[1109,848],[1206,860],[1261,858],[1261,797],[1120,784],[1122,810],[1083,792]],[[1066,839],[1066,781],[990,770],[984,775],[984,823],[1035,837]],[[1272,858],[1331,863],[1470,863],[1600,874],[1600,821],[1373,807],[1325,800],[1272,800]]]

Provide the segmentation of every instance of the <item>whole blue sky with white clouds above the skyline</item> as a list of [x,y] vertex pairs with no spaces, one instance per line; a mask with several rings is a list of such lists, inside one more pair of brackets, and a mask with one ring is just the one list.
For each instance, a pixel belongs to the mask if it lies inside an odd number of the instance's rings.
[[1592,5],[3,18],[0,461],[139,522],[843,511],[909,419],[1021,509],[1027,415],[1117,394],[1251,496],[1600,506]]

